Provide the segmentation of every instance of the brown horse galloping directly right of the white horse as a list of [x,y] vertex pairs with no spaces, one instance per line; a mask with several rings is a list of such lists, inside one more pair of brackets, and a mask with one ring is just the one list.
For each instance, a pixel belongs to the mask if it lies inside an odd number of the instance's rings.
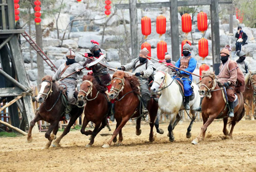
[[223,118],[224,128],[223,133],[225,138],[232,138],[232,132],[234,126],[244,116],[244,98],[242,92],[237,92],[238,105],[234,108],[234,117],[228,122],[231,126],[228,134],[227,121],[228,121],[228,107],[223,99],[222,89],[216,84],[216,76],[212,71],[205,71],[202,73],[202,80],[199,85],[199,94],[204,96],[202,101],[202,117],[203,126],[199,135],[191,142],[197,144],[202,136],[202,140],[205,138],[205,132],[207,127],[211,124],[214,119]]

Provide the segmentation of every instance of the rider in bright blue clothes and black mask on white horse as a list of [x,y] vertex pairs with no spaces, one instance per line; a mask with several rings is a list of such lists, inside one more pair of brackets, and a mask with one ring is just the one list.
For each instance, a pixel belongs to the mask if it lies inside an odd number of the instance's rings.
[[[197,66],[197,60],[191,56],[191,46],[188,43],[185,43],[183,46],[182,54],[183,56],[176,62],[176,67],[184,69],[189,72],[193,72]],[[178,70],[178,69],[176,69]],[[184,108],[186,110],[190,110],[188,105],[189,96],[193,93],[193,89],[190,84],[192,81],[192,75],[182,70],[178,70],[176,72],[176,76],[174,77],[177,80],[182,80],[184,87]]]

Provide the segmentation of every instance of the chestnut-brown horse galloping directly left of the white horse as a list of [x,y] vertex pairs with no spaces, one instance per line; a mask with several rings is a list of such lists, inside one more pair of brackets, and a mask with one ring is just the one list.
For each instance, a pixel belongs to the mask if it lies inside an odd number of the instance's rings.
[[[123,71],[116,71],[111,81],[112,88],[109,92],[110,99],[117,99],[115,102],[115,119],[117,121],[116,130],[112,138],[105,143],[102,148],[109,148],[112,141],[119,134],[118,145],[122,144],[122,128],[130,118],[137,118],[136,135],[141,134],[140,130],[140,101],[139,80],[135,76],[129,76]],[[153,128],[157,116],[158,104],[153,99],[148,101],[147,109],[150,112],[150,141],[154,141]]]

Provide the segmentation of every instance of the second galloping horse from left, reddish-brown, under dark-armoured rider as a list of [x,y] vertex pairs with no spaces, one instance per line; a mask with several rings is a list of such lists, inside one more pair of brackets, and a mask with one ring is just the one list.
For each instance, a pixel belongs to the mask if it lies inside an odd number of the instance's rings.
[[[92,135],[90,143],[86,146],[91,147],[95,136],[106,126],[109,103],[91,74],[83,76],[82,80],[78,94],[78,106],[85,106],[81,133],[87,136]],[[89,121],[94,122],[95,128],[93,131],[84,131]]]

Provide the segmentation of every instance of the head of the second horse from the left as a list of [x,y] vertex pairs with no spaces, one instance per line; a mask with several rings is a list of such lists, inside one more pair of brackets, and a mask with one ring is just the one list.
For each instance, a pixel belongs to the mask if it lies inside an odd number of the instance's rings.
[[92,95],[93,90],[93,75],[92,73],[88,73],[88,75],[83,76],[82,83],[80,85],[80,90],[77,95],[78,106],[82,107],[86,105],[86,99],[88,95]]

